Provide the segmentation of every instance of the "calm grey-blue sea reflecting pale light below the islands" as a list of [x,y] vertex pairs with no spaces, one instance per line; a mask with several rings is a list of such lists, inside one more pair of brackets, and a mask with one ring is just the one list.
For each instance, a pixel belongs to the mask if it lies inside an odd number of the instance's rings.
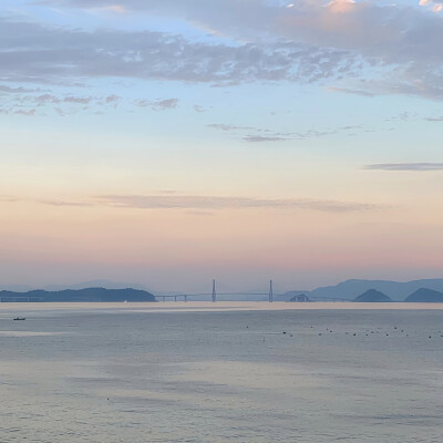
[[1,303],[0,442],[441,443],[441,308]]

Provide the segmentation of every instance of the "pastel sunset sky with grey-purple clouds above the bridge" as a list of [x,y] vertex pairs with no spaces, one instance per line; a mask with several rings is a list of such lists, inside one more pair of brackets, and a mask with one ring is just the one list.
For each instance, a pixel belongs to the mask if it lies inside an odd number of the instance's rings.
[[0,282],[443,269],[443,2],[2,0]]

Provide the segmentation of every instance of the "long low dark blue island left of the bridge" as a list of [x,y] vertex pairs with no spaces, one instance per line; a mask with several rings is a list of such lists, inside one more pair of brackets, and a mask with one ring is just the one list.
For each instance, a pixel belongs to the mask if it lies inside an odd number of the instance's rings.
[[0,302],[122,302],[156,301],[155,297],[138,289],[65,289],[60,291],[31,290],[28,292],[0,291]]

